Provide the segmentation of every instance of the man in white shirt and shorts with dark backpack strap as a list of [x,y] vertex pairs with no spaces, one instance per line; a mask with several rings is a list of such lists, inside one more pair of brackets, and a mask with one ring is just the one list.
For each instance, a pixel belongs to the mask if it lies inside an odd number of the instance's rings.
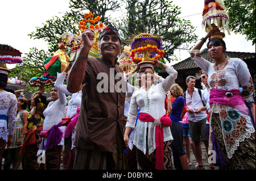
[[191,131],[192,141],[195,142],[196,146],[196,160],[199,163],[197,169],[202,170],[203,159],[201,150],[201,140],[207,145],[206,136],[206,121],[207,107],[203,104],[201,99],[201,90],[195,88],[196,78],[189,75],[186,79],[186,84],[188,86],[187,91],[185,91],[185,102],[187,105],[188,112],[188,123],[189,129]]

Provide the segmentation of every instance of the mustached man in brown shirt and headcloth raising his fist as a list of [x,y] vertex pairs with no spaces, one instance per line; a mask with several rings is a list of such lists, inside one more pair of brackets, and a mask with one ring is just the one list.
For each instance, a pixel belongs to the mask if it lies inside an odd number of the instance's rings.
[[101,57],[88,56],[93,30],[82,33],[82,48],[68,75],[67,89],[82,87],[74,169],[127,169],[123,128],[126,83],[117,65],[119,33],[110,24],[101,33]]

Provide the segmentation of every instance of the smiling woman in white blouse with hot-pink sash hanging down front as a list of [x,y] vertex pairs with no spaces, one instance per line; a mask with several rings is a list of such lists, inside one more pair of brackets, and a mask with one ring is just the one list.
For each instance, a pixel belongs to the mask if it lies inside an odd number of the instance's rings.
[[[161,66],[161,62],[156,60],[155,66]],[[131,129],[135,127],[137,110],[139,108],[139,119],[137,121],[134,136],[134,145],[138,149],[137,161],[139,169],[170,169],[168,168],[168,165],[164,165],[163,163],[164,148],[162,146],[164,142],[172,140],[171,124],[164,125],[162,120],[164,119],[164,116],[166,116],[166,110],[164,108],[166,92],[177,78],[177,71],[174,70],[173,67],[169,67],[165,64],[162,64],[162,66],[169,75],[163,82],[154,85],[153,66],[146,64],[141,65],[142,86],[141,89],[135,91],[131,97],[124,140],[128,147],[128,135]],[[146,117],[150,117],[150,119],[147,119]],[[170,120],[168,116],[166,117]],[[158,134],[158,129],[162,129],[162,135]],[[158,142],[158,139],[155,138],[156,136],[162,137],[162,139]],[[162,146],[159,146],[158,144]],[[158,148],[161,150],[159,154],[156,153],[156,151],[159,150]]]

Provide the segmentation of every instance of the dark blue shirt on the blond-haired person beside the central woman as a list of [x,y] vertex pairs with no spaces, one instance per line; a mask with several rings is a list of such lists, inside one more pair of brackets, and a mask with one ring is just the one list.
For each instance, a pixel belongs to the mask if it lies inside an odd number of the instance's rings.
[[172,122],[181,121],[181,113],[185,104],[185,99],[183,96],[179,96],[175,99],[174,103],[172,103],[172,113],[170,113],[170,119]]

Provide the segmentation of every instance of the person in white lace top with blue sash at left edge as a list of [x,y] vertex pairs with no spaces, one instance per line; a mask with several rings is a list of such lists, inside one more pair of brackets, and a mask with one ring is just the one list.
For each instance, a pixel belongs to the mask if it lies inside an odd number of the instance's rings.
[[[2,165],[3,151],[13,144],[13,134],[16,122],[17,99],[15,94],[3,90],[7,85],[8,73],[0,68],[0,163]],[[7,133],[8,120],[8,133]],[[1,170],[1,169],[0,169]]]

